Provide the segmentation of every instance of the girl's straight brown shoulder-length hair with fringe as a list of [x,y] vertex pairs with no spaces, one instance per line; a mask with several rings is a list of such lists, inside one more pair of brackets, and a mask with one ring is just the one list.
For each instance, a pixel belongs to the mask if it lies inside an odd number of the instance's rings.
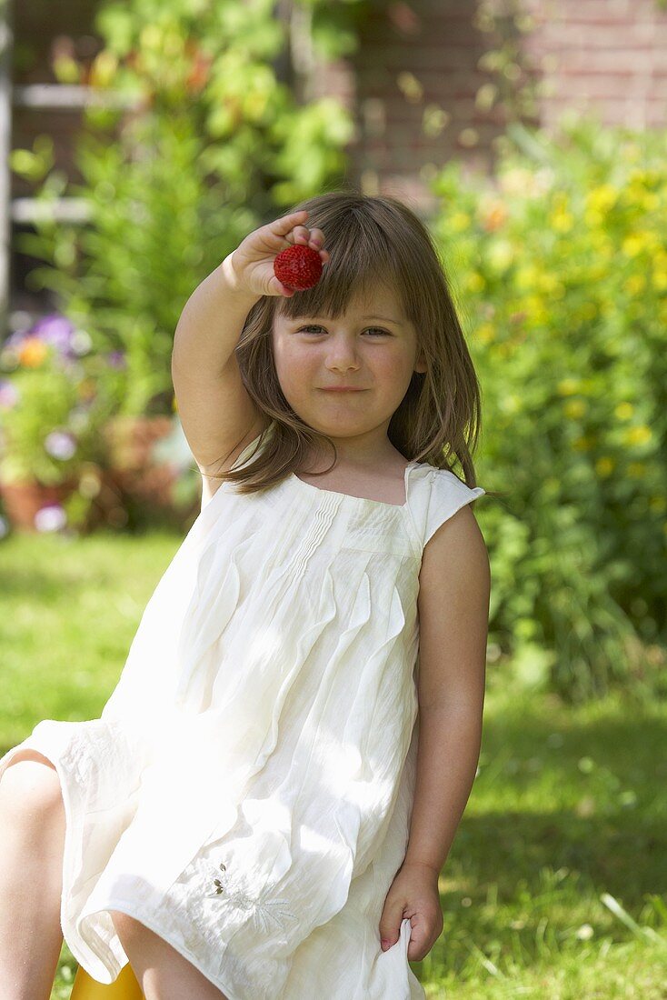
[[[282,393],[273,359],[273,320],[277,314],[336,319],[357,294],[363,297],[373,286],[387,284],[417,332],[417,356],[421,352],[426,363],[425,372],[413,372],[389,422],[389,440],[409,461],[449,469],[458,459],[465,483],[475,486],[471,452],[480,422],[479,384],[428,229],[389,195],[331,191],[301,201],[289,212],[300,209],[308,211],[308,228],[324,233],[330,259],[313,288],[290,298],[264,295],[248,313],[235,354],[243,384],[266,418],[260,454],[252,463],[246,459],[243,468],[226,469],[213,478],[238,484],[236,492],[252,493],[298,471],[308,455],[327,443],[335,455],[333,441],[304,423]],[[272,433],[263,447],[269,427]]]

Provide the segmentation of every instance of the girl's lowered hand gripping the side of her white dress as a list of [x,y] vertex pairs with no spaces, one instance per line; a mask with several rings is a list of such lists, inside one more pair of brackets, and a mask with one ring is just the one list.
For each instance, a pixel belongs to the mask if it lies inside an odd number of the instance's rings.
[[399,868],[384,901],[380,918],[383,951],[399,939],[401,921],[410,918],[408,961],[421,962],[442,933],[444,921],[438,892],[438,872],[407,862]]

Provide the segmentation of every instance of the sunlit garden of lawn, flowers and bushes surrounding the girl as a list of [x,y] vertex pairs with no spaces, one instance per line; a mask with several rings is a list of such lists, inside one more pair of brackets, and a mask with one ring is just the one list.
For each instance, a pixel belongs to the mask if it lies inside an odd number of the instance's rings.
[[[322,51],[346,51],[357,5],[313,6]],[[353,131],[276,78],[259,7],[109,4],[99,30],[94,62],[59,72],[133,111],[88,110],[88,224],[45,214],[23,237],[58,307],[0,343],[0,753],[41,719],[99,716],[199,512],[180,310],[247,232],[344,182]],[[450,160],[429,181],[482,387],[492,572],[482,754],[444,931],[413,963],[429,1000],[664,996],[664,150],[593,119],[515,122],[493,176]],[[12,169],[45,204],[67,187],[46,137]],[[52,1000],[75,972],[65,945]]]

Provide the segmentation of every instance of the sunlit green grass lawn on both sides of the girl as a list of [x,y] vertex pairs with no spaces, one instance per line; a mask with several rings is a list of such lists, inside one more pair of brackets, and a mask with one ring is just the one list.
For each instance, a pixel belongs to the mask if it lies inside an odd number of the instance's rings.
[[[99,713],[180,544],[166,532],[0,544],[0,750]],[[667,707],[571,708],[490,667],[478,776],[441,876],[429,1000],[667,997]],[[76,962],[63,945],[52,1000]]]

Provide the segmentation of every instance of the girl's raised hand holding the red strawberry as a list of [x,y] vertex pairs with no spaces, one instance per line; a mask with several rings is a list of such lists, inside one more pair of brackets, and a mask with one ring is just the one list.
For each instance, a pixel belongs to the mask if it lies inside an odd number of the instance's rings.
[[282,250],[301,243],[317,250],[322,264],[329,261],[329,253],[322,249],[324,233],[321,229],[308,229],[304,225],[308,212],[292,212],[275,222],[255,229],[239,243],[227,258],[234,284],[238,291],[250,295],[283,295],[291,298],[294,289],[283,285],[273,272],[273,262]]

